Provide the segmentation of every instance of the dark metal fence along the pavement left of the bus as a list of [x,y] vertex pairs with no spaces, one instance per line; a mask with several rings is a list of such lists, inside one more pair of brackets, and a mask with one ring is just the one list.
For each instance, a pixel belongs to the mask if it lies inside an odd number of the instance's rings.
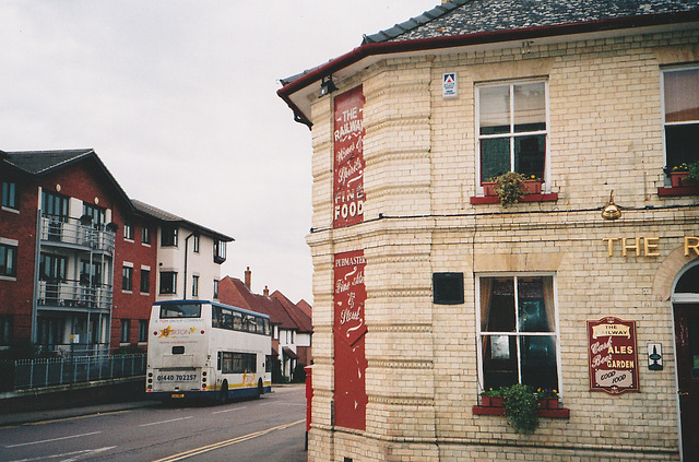
[[56,387],[145,374],[146,355],[75,356],[14,362],[15,390]]

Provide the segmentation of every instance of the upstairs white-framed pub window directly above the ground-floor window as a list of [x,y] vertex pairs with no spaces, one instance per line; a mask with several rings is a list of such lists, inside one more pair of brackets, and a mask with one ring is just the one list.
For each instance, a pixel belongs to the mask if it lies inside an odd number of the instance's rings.
[[478,186],[508,171],[547,181],[548,83],[476,87]]

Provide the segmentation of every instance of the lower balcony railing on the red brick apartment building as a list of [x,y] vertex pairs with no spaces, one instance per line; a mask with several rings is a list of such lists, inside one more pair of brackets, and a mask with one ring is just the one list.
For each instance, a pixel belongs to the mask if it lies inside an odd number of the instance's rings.
[[44,307],[108,310],[111,307],[111,286],[86,285],[79,281],[39,281],[37,305]]

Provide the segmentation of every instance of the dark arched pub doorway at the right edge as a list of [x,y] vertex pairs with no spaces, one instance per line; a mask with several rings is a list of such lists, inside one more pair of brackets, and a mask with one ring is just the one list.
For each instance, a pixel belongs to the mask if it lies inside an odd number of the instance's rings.
[[699,261],[673,293],[683,460],[699,460]]

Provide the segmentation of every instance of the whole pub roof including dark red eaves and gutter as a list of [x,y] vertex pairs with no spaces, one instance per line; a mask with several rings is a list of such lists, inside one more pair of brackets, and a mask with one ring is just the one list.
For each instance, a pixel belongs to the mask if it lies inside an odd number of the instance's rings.
[[311,127],[309,97],[319,93],[322,79],[346,79],[387,56],[697,22],[698,0],[451,0],[281,79],[277,95],[296,121]]

